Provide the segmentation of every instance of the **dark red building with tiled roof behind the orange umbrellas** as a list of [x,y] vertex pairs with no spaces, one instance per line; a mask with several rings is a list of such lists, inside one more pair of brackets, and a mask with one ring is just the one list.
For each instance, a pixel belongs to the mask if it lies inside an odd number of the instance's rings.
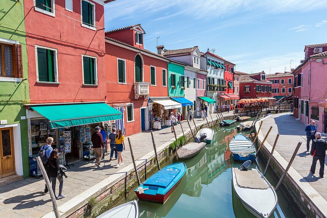
[[[270,81],[266,80],[266,73],[264,71],[259,73],[244,74],[240,76],[240,99],[255,99],[271,97]],[[270,98],[269,98],[270,97]]]

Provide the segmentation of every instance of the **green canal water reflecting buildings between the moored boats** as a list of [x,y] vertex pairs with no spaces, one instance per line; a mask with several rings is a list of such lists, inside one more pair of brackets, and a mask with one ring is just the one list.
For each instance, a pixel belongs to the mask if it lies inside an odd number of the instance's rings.
[[[139,200],[140,217],[254,217],[232,190],[231,168],[241,166],[241,163],[233,162],[230,158],[231,151],[228,148],[230,140],[237,134],[236,125],[218,127],[211,144],[207,144],[207,149],[184,161],[187,166],[186,173],[165,204]],[[179,160],[175,158],[166,164],[176,162]],[[260,161],[259,166],[251,166],[261,169],[262,172],[265,169],[263,164],[260,165]],[[276,181],[269,173],[266,177],[276,186]],[[134,199],[137,199],[137,196],[133,191],[119,204]],[[279,204],[270,218],[299,217],[282,191],[278,191],[278,201]]]

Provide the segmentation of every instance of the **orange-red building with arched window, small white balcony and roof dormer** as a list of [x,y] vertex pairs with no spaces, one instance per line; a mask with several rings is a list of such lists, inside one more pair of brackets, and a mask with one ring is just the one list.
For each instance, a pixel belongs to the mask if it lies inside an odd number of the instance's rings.
[[144,49],[144,34],[140,24],[105,33],[107,101],[124,107],[126,136],[149,129],[148,97],[168,98],[169,60]]

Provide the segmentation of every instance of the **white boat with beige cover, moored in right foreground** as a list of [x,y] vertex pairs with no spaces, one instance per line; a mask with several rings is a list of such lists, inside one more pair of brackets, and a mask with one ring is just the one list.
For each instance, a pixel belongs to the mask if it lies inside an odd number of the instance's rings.
[[268,218],[276,209],[276,191],[257,169],[232,168],[232,187],[243,206],[254,216]]

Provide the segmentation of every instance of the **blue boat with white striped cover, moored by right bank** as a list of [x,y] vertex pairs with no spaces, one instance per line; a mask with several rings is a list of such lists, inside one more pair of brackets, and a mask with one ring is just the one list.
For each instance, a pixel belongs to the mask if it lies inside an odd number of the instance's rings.
[[229,149],[235,161],[254,161],[256,154],[255,147],[250,138],[241,133],[234,136],[230,141]]

